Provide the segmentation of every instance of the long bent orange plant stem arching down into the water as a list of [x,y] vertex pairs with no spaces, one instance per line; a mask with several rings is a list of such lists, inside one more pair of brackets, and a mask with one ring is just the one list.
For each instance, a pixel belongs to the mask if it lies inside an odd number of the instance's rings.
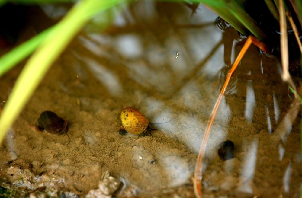
[[241,61],[243,55],[246,53],[247,49],[249,49],[249,46],[252,43],[254,43],[262,51],[268,51],[268,47],[265,45],[265,43],[262,43],[261,41],[259,41],[258,39],[256,39],[253,36],[249,36],[249,38],[244,43],[242,49],[240,50],[240,52],[239,52],[239,54],[238,54],[238,56],[237,56],[237,58],[236,58],[236,60],[233,64],[232,68],[230,69],[230,71],[228,72],[228,74],[226,76],[226,81],[225,81],[225,83],[224,83],[224,85],[223,85],[223,87],[220,91],[219,97],[216,101],[214,109],[212,110],[212,113],[210,115],[210,119],[207,123],[207,128],[204,132],[204,137],[202,139],[201,147],[200,147],[197,162],[196,162],[194,178],[193,178],[193,185],[194,185],[194,193],[195,193],[195,196],[197,198],[201,198],[202,158],[204,157],[204,151],[205,151],[205,148],[206,148],[206,145],[207,145],[207,139],[209,138],[210,130],[211,130],[212,124],[214,122],[216,112],[218,110],[221,99],[222,99],[222,97],[224,95],[224,92],[226,90],[226,87],[229,84],[230,79],[231,79],[236,67],[238,66],[238,64]]

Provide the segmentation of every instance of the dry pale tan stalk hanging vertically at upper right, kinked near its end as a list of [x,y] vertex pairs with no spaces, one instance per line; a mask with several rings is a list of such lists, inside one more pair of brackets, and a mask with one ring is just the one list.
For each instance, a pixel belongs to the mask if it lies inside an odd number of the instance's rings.
[[[281,47],[281,63],[282,63],[282,80],[287,82],[297,93],[296,85],[291,79],[291,75],[288,72],[288,38],[287,38],[287,26],[285,19],[285,9],[283,0],[279,0],[279,15],[280,15],[280,47]],[[297,94],[295,94],[297,98]]]

